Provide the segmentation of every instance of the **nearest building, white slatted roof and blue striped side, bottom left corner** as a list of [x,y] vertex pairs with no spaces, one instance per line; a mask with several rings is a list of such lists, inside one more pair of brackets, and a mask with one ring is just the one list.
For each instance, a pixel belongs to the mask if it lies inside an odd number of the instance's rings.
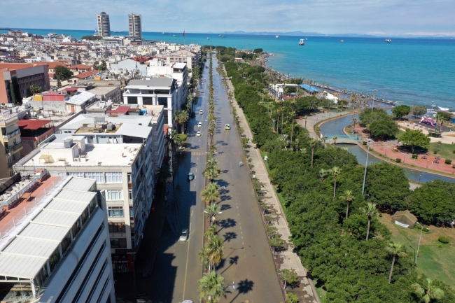
[[1,302],[115,303],[106,201],[96,181],[32,173],[0,189]]

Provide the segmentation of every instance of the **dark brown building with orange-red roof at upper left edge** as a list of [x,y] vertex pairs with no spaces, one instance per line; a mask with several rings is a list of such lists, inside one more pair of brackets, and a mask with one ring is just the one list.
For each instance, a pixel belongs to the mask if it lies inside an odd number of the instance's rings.
[[22,100],[31,85],[37,85],[42,90],[50,89],[47,64],[0,63],[0,103]]

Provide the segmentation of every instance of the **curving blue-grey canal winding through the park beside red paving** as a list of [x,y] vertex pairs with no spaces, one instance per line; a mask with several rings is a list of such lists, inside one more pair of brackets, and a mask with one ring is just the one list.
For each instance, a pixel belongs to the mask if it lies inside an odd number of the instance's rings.
[[[352,118],[358,118],[358,115],[347,115],[342,118],[330,120],[328,122],[323,123],[321,125],[321,133],[322,134],[334,134],[334,135],[344,135],[343,129],[347,125],[351,124]],[[346,148],[349,153],[355,155],[357,157],[357,161],[360,164],[364,164],[367,160],[367,152],[363,150],[363,148],[360,148],[357,144],[337,144],[338,147],[340,148]],[[380,163],[384,162],[384,160],[381,160],[378,157],[375,157],[370,153],[368,155],[368,165],[374,164],[374,163]],[[412,181],[420,181],[422,183],[426,183],[429,181],[433,181],[435,179],[440,179],[442,181],[450,181],[450,182],[455,182],[454,178],[449,178],[446,176],[441,176],[437,174],[431,174],[426,171],[419,171],[416,169],[409,169],[407,167],[403,167],[405,169],[405,175],[407,178],[409,178]]]

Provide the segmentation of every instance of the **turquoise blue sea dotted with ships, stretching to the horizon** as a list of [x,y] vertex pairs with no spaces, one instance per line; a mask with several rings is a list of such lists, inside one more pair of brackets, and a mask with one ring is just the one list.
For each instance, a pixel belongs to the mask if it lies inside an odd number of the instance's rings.
[[[80,38],[93,31],[22,29],[33,34],[67,34]],[[2,31],[4,32],[4,31]],[[127,32],[112,33],[127,35]],[[174,37],[173,35],[176,35]],[[269,66],[290,76],[302,76],[348,91],[373,94],[381,99],[455,109],[455,39],[351,38],[144,32],[148,40],[171,43],[262,48],[274,54]],[[207,37],[209,40],[207,40]],[[304,46],[300,38],[308,38]],[[340,40],[343,39],[344,43]]]

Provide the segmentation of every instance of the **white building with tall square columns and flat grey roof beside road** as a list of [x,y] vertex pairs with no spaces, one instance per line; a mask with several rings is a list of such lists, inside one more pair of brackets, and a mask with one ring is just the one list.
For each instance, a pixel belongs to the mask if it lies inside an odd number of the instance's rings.
[[130,80],[123,93],[123,103],[137,105],[162,105],[165,108],[165,124],[173,127],[173,115],[180,110],[186,99],[185,87],[179,86],[174,78],[151,78]]

